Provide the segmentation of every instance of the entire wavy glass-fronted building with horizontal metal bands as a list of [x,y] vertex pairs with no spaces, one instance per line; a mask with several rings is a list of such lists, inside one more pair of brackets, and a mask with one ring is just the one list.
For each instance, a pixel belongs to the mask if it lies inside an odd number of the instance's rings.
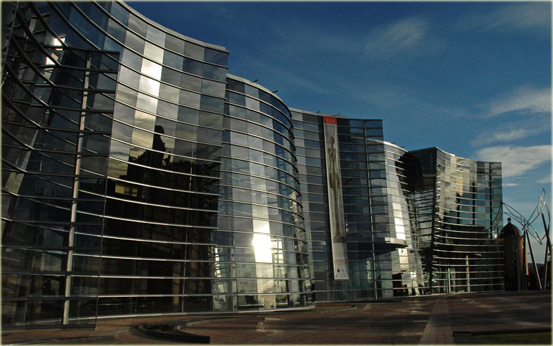
[[2,13],[4,329],[503,289],[500,163],[290,109],[122,2]]

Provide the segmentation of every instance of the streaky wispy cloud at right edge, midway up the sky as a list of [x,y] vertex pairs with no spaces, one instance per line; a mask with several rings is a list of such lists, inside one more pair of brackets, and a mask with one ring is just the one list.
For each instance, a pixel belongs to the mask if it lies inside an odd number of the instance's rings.
[[516,91],[481,106],[482,116],[501,116],[511,112],[524,112],[527,115],[551,112],[551,88],[536,89],[521,86]]

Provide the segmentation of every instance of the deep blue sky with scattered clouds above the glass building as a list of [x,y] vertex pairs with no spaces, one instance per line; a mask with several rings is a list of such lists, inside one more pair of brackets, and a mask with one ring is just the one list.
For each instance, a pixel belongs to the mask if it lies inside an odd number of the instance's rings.
[[224,46],[229,73],[288,107],[382,119],[384,140],[409,150],[500,161],[505,203],[529,217],[545,188],[553,206],[550,1],[127,3]]

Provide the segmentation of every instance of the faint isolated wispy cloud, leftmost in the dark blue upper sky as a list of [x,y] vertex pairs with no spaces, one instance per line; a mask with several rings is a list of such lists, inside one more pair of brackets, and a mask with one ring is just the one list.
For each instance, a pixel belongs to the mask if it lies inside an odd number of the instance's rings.
[[426,19],[414,17],[371,30],[366,38],[365,51],[366,56],[382,60],[400,55],[434,55],[444,46],[444,41],[433,37]]

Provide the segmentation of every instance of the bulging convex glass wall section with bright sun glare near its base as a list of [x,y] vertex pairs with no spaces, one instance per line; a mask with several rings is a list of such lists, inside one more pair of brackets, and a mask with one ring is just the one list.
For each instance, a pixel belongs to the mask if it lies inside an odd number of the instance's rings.
[[223,127],[214,310],[312,304],[290,111],[229,75]]

